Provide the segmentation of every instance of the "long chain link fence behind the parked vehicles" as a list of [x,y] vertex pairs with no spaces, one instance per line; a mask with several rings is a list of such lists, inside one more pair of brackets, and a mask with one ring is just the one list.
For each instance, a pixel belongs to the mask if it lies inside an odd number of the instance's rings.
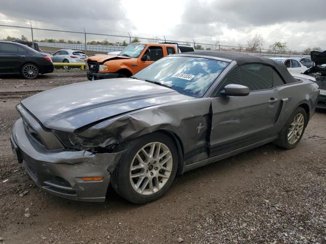
[[[45,27],[44,27],[45,26]],[[245,46],[231,46],[221,42],[196,41],[191,38],[176,38],[168,36],[133,35],[132,33],[110,32],[83,27],[69,28],[46,25],[35,25],[16,22],[0,22],[0,40],[24,41],[25,44],[39,48],[40,51],[52,54],[53,52],[69,48],[82,50],[87,55],[103,54],[113,51],[121,51],[125,46],[133,42],[177,42],[179,44],[194,46],[196,50],[218,50],[252,53],[267,57],[275,56],[303,56],[303,53],[291,51],[276,53],[268,49],[251,49]]]

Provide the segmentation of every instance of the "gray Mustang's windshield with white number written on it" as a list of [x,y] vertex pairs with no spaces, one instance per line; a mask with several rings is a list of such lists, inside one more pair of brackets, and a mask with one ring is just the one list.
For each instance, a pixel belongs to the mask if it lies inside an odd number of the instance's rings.
[[161,83],[183,95],[201,98],[229,63],[199,57],[169,56],[133,77]]

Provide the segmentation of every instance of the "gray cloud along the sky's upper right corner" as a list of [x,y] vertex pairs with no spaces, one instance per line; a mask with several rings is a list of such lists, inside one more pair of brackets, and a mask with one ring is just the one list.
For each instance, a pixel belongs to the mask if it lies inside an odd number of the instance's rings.
[[224,23],[228,27],[262,26],[286,21],[314,22],[326,19],[326,1],[311,0],[228,0],[195,1],[186,5],[182,14],[184,23]]

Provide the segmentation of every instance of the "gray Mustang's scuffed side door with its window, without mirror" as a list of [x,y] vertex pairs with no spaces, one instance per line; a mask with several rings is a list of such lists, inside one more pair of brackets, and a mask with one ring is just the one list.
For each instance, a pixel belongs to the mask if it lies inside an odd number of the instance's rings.
[[[223,96],[227,84],[250,88],[248,96]],[[273,87],[273,69],[249,64],[234,68],[211,99],[210,157],[267,139],[273,132],[280,95]]]

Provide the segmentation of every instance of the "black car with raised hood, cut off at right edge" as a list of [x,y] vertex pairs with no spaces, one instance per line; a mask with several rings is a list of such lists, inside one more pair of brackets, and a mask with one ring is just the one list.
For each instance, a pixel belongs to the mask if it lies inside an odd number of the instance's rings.
[[304,72],[312,76],[320,88],[317,108],[326,108],[326,51],[311,51],[314,66]]

